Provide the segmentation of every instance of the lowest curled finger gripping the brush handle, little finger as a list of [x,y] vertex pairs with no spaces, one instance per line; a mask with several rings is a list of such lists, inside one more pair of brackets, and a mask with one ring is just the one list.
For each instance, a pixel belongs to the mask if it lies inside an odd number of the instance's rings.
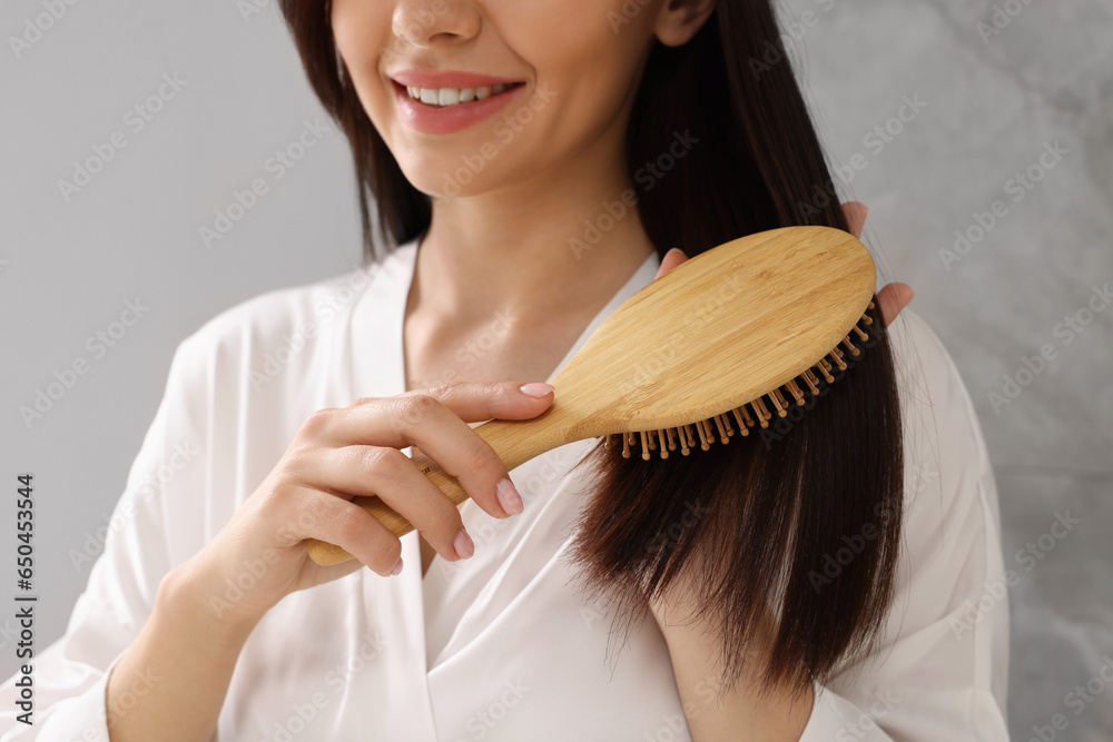
[[299,487],[287,528],[304,538],[336,544],[380,575],[387,577],[402,558],[402,542],[358,505],[326,492]]

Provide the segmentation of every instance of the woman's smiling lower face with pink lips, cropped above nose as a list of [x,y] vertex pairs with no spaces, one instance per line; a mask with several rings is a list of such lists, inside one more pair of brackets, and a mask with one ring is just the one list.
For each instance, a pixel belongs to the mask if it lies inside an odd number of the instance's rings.
[[621,164],[662,1],[333,0],[332,23],[406,178],[451,198]]

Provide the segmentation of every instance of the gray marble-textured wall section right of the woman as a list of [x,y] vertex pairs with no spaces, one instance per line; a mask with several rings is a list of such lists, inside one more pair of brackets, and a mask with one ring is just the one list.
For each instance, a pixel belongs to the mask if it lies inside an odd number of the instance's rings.
[[[833,160],[866,159],[847,194],[883,274],[914,287],[981,418],[1018,580],[1013,736],[1063,713],[1060,739],[1109,740],[1113,687],[1065,699],[1113,666],[1113,3],[780,8]],[[866,140],[906,97],[922,110]]]

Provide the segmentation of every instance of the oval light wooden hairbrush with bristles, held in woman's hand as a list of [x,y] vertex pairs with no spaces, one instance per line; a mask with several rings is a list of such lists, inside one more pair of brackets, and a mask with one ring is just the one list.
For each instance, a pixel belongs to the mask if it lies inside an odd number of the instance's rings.
[[[622,303],[550,382],[553,404],[526,421],[490,421],[475,432],[514,469],[574,441],[621,436],[649,458],[679,445],[707,449],[767,427],[804,405],[857,356],[850,334],[874,323],[874,260],[853,235],[785,227],[725,243],[680,264]],[[843,346],[840,349],[839,346]],[[695,435],[693,435],[695,431]],[[431,458],[413,461],[457,505],[467,493]],[[356,503],[401,536],[413,531],[378,497]],[[317,564],[352,558],[306,540]]]

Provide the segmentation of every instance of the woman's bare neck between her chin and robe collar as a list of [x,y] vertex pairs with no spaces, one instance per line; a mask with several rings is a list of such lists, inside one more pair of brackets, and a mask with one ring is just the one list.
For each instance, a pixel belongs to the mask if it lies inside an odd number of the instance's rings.
[[583,152],[526,182],[434,199],[411,301],[460,324],[498,313],[523,328],[593,316],[654,251],[630,204],[621,147],[605,149],[609,162]]

